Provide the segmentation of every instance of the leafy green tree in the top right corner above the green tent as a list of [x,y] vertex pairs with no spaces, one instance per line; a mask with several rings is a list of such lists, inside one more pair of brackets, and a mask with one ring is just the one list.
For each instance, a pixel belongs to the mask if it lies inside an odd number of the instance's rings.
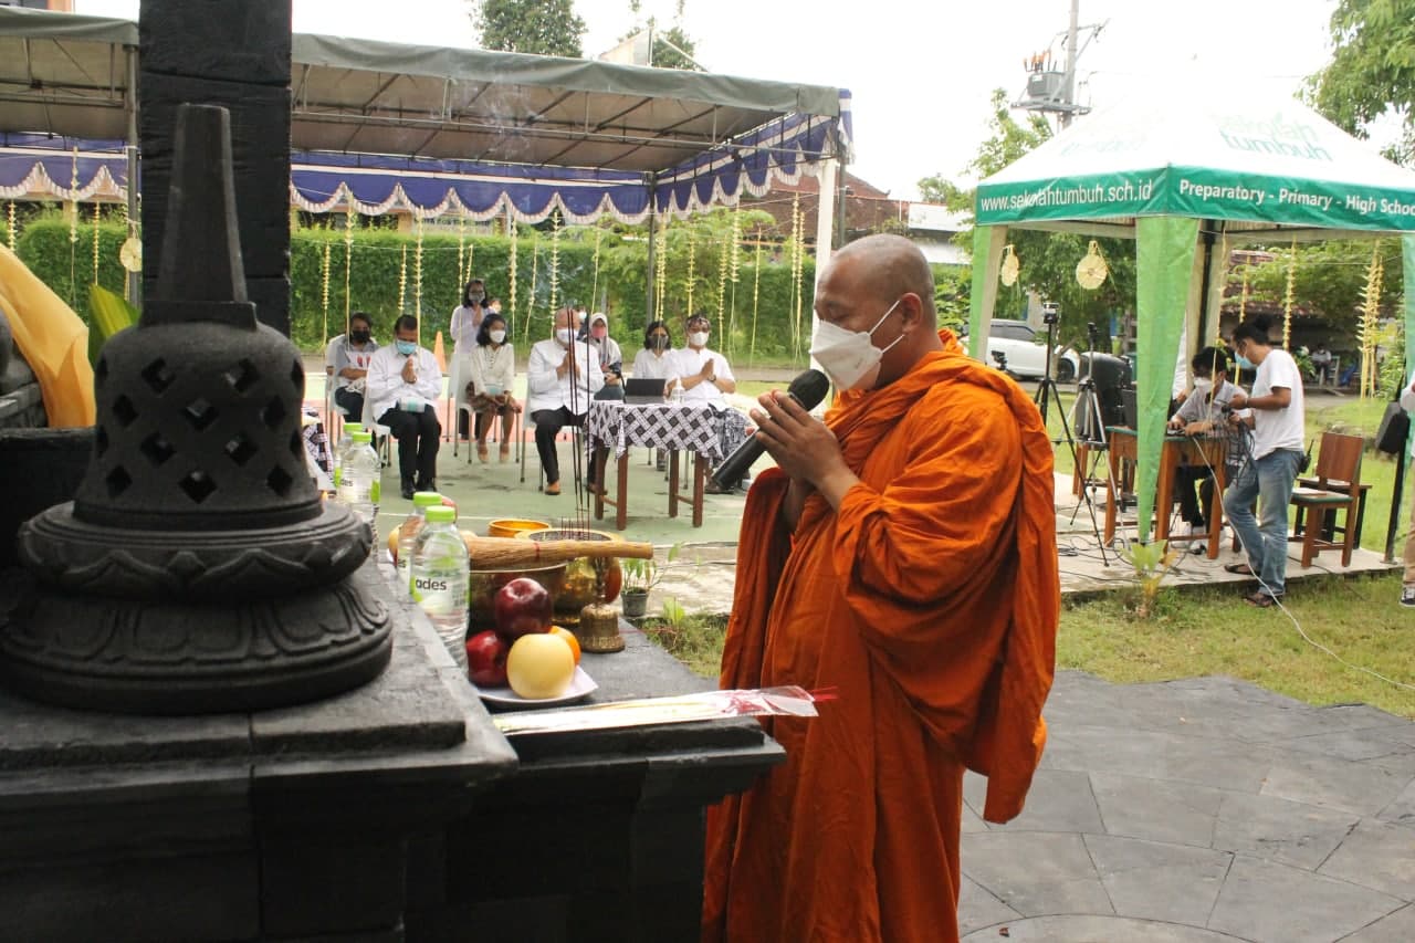
[[1307,81],[1317,110],[1361,137],[1387,112],[1402,116],[1404,140],[1388,156],[1415,160],[1415,0],[1340,0],[1332,44]]

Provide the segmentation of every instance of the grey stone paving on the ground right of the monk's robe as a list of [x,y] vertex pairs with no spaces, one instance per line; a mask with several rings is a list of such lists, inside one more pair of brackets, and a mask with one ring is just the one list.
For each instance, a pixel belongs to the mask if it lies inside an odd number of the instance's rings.
[[1415,940],[1415,724],[1075,671],[1047,722],[1015,821],[985,824],[965,783],[966,943]]

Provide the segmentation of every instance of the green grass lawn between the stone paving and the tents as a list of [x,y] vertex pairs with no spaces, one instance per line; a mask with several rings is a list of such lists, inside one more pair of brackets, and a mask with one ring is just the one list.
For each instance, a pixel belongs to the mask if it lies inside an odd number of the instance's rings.
[[[1302,630],[1353,665],[1415,684],[1415,612],[1397,605],[1399,576],[1295,583],[1288,609]],[[1302,639],[1281,610],[1244,606],[1237,589],[1160,592],[1155,615],[1133,613],[1133,593],[1068,599],[1057,667],[1140,682],[1225,674],[1307,704],[1373,704],[1415,719],[1415,691],[1343,665]],[[716,677],[726,617],[689,615],[678,626],[647,620],[651,639],[705,677]]]

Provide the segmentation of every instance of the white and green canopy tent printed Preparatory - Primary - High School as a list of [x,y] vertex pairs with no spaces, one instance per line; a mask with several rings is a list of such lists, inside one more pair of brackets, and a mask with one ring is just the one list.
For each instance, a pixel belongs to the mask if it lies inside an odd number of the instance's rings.
[[1180,336],[1187,327],[1197,348],[1217,326],[1224,286],[1207,276],[1220,235],[1282,244],[1402,235],[1407,361],[1415,362],[1415,173],[1293,99],[1204,91],[1197,81],[1179,95],[1132,96],[983,180],[975,212],[969,344],[979,358],[1009,228],[1138,241],[1142,541]]

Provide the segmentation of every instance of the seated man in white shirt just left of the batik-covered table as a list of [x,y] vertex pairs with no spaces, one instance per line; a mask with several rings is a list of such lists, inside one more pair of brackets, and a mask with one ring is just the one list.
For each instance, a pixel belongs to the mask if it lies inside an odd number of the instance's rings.
[[[555,438],[565,426],[583,426],[590,399],[604,385],[599,353],[576,340],[580,317],[570,307],[555,313],[555,336],[531,345],[526,365],[526,412],[535,422],[535,447],[545,469],[545,493],[560,493]],[[590,476],[594,480],[594,476]]]

